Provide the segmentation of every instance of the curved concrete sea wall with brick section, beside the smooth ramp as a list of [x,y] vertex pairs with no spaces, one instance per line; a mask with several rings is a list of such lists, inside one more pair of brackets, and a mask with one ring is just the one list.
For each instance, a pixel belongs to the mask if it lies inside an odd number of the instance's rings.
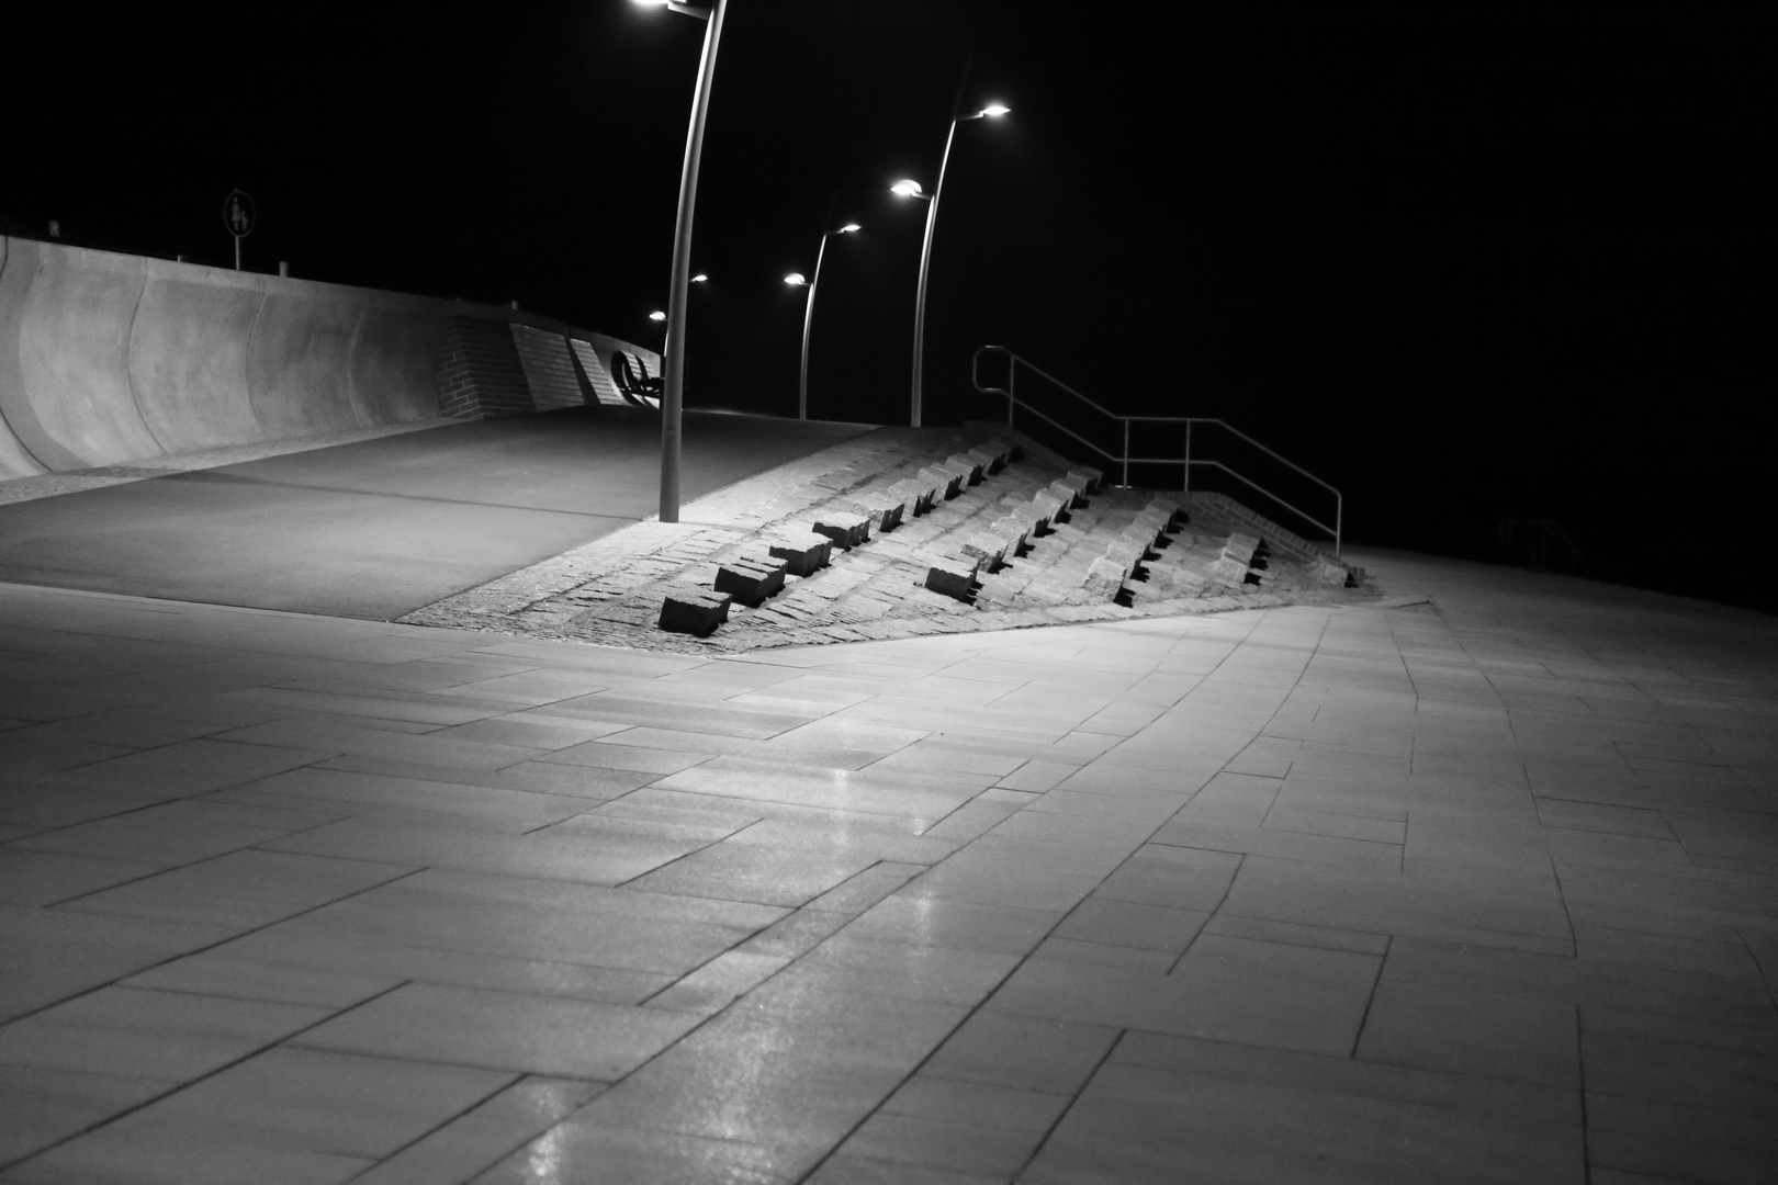
[[[466,332],[525,354],[455,373]],[[660,357],[514,309],[0,236],[0,480],[565,407],[576,387],[635,403],[613,373],[637,370]]]

